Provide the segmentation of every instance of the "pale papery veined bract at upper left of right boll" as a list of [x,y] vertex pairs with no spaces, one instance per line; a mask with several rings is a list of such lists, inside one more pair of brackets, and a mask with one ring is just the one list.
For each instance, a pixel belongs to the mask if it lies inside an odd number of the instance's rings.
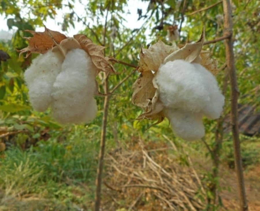
[[139,72],[153,70],[157,72],[159,66],[163,63],[165,57],[172,52],[177,51],[179,48],[174,43],[172,46],[164,44],[161,40],[152,45],[148,49],[141,48]]

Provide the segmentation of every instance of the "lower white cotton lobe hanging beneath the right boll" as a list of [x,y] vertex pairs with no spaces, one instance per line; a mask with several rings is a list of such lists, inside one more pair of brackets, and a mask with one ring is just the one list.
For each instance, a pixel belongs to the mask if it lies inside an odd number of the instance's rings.
[[172,130],[182,139],[194,141],[205,135],[202,113],[192,113],[181,109],[165,109],[164,114],[170,120]]

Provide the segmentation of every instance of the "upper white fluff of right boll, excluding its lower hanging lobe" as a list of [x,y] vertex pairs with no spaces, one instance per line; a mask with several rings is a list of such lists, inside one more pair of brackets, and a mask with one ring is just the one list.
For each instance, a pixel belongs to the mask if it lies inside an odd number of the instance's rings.
[[218,118],[222,112],[224,96],[216,78],[200,64],[169,61],[159,68],[155,82],[166,108],[203,112],[210,119]]

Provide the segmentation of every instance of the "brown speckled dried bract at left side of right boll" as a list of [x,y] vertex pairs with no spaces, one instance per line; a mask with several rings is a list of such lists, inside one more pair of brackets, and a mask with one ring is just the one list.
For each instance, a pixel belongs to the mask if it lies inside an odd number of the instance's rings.
[[153,73],[151,71],[142,72],[133,84],[133,104],[146,108],[155,95],[156,88],[153,85]]

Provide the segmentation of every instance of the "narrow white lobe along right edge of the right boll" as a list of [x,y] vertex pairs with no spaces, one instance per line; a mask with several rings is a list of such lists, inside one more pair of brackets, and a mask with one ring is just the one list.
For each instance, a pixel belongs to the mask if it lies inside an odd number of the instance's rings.
[[210,100],[202,109],[203,113],[210,119],[217,119],[223,110],[224,96],[220,92],[215,76],[200,64],[194,64],[194,66],[203,75],[204,83],[207,84],[209,91]]

